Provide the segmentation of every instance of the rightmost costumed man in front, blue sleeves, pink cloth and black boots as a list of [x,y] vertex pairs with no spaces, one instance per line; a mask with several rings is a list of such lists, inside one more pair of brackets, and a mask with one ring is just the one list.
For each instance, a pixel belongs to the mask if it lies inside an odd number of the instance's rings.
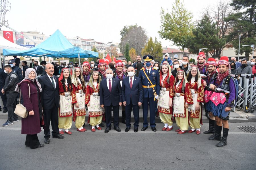
[[[218,62],[220,73],[210,84],[210,89],[214,90],[210,100],[212,101],[212,112],[215,116],[216,127],[214,134],[211,135],[209,140],[220,141],[216,146],[222,147],[227,145],[228,137],[228,120],[232,107],[236,103],[236,83],[234,77],[230,75],[230,64],[228,57],[223,56]],[[223,126],[223,136],[221,138],[221,130]]]

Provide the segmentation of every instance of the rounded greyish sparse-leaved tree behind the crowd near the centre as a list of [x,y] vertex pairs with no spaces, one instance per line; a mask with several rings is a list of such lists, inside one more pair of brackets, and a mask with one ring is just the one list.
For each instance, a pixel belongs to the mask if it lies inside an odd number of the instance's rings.
[[145,46],[148,39],[146,31],[143,27],[135,25],[124,26],[120,31],[121,42],[119,43],[120,51],[124,54],[125,46],[128,43],[130,48],[134,48],[138,54],[141,54],[141,49]]

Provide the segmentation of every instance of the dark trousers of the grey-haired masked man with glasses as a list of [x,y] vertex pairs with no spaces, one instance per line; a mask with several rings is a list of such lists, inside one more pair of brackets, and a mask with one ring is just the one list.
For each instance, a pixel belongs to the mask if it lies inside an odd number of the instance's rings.
[[118,117],[119,117],[119,105],[113,106],[104,106],[105,108],[105,118],[107,128],[111,128],[111,108],[113,107],[113,117],[114,117],[114,127],[118,127]]

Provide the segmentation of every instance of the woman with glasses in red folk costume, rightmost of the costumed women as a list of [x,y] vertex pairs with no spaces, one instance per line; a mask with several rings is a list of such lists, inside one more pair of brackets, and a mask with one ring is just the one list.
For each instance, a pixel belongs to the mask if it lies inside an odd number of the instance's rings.
[[191,90],[193,105],[189,105],[189,125],[192,128],[187,133],[200,134],[200,123],[202,123],[202,102],[204,102],[204,84],[197,65],[192,65],[187,75],[189,88]]

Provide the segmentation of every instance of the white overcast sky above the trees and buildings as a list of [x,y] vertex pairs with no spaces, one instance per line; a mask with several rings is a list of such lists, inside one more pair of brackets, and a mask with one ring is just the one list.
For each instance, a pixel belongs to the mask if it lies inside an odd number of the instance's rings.
[[[9,0],[11,11],[6,19],[17,31],[40,31],[46,36],[59,29],[63,35],[73,38],[94,39],[100,42],[120,42],[120,30],[124,25],[138,24],[148,37],[157,37],[162,46],[171,46],[168,40],[159,38],[160,9],[172,9],[175,0],[127,0],[127,1],[77,1],[77,0]],[[184,0],[185,7],[198,20],[202,7],[216,0]],[[2,27],[2,30],[9,30]]]

